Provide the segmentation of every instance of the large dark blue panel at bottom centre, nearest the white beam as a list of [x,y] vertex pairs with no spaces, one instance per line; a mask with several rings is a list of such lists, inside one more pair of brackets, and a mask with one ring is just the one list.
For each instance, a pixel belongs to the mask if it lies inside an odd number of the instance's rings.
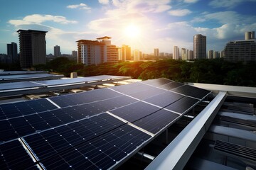
[[46,169],[110,169],[149,138],[144,132],[122,125],[41,162]]

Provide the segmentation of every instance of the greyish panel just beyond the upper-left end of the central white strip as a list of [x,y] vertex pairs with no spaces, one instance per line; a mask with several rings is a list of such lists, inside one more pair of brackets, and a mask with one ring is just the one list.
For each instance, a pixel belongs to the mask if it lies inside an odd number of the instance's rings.
[[128,122],[134,122],[159,110],[160,108],[156,106],[151,106],[150,104],[139,101],[122,108],[114,109],[110,111],[110,113],[113,113],[114,115],[117,115]]

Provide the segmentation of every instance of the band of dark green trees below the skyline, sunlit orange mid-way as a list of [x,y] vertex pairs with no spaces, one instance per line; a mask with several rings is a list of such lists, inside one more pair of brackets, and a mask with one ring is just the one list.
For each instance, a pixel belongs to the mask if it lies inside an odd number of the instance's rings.
[[78,72],[78,76],[96,75],[128,76],[133,79],[156,79],[165,77],[174,81],[206,84],[225,84],[234,86],[256,86],[256,62],[242,64],[227,62],[223,59],[195,60],[158,60],[156,62],[119,62],[98,65],[78,64],[66,57],[58,57],[46,65],[35,66],[37,70],[49,70],[70,76],[70,72]]

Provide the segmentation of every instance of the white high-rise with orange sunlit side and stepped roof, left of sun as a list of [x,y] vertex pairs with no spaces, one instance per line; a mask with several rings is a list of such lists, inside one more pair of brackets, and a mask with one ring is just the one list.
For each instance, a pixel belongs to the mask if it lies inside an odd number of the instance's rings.
[[118,48],[111,45],[110,37],[97,40],[78,40],[78,62],[83,64],[100,64],[118,62]]

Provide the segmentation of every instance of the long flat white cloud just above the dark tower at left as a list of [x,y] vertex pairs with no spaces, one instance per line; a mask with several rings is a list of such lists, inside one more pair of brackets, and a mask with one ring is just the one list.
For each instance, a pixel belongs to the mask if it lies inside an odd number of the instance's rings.
[[53,21],[55,23],[78,23],[77,21],[69,21],[64,16],[52,16],[52,15],[41,15],[33,14],[30,16],[25,16],[22,20],[10,20],[9,23],[14,26],[26,25],[26,24],[37,24],[46,21]]

